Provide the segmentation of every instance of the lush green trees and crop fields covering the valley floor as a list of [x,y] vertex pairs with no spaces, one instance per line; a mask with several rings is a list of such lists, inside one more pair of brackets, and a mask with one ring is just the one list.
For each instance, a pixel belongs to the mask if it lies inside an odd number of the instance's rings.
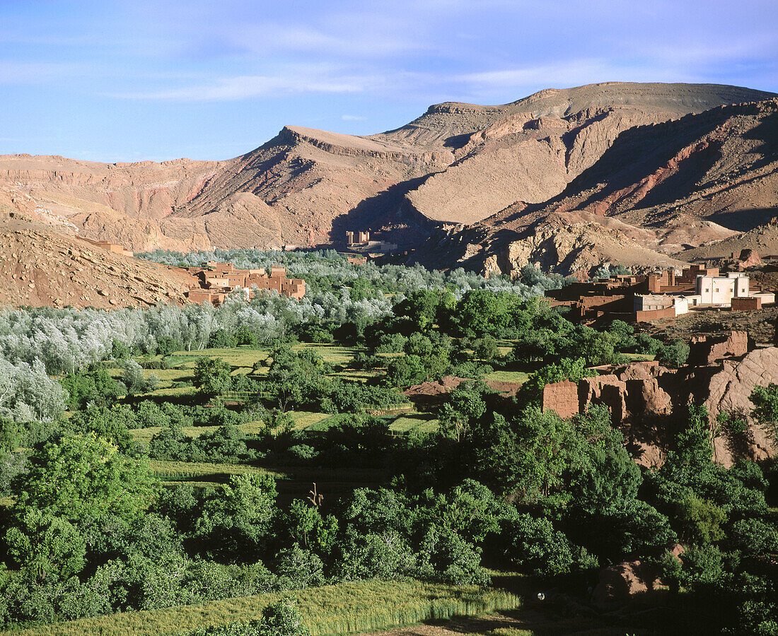
[[[518,606],[494,571],[585,602],[601,567],[640,559],[664,583],[641,633],[778,633],[771,463],[714,464],[695,404],[662,424],[658,469],[604,407],[539,407],[593,365],[680,365],[682,342],[569,322],[540,298],[564,281],[534,267],[151,257],[280,261],[307,295],[0,312],[6,629],[339,634]],[[778,387],[753,401],[774,430]]]

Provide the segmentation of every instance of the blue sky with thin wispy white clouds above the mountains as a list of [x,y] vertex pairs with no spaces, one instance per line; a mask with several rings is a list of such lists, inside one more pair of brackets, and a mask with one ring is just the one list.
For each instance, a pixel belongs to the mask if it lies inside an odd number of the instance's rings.
[[0,0],[0,154],[228,159],[608,81],[778,92],[778,2]]

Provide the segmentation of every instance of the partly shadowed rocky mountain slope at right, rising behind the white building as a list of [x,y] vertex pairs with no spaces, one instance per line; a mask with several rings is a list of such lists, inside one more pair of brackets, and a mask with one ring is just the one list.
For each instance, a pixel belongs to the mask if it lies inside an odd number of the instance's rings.
[[[662,264],[656,252],[682,260],[744,247],[775,253],[778,232],[770,221],[776,215],[773,99],[630,128],[558,196],[541,204],[519,201],[478,225],[436,236],[426,252],[503,272],[527,262],[562,273],[608,260],[651,267]],[[612,242],[592,246],[592,232],[611,232],[634,249],[624,254]],[[565,235],[576,240],[549,257],[547,235],[557,243]]]

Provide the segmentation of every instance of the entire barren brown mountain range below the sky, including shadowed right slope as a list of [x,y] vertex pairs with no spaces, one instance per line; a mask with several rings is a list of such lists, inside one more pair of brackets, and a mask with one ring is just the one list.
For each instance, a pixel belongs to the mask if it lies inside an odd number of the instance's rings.
[[[542,219],[546,234],[553,222],[578,224],[573,243],[581,253],[591,232],[602,233],[591,258],[567,259],[562,268],[569,269],[630,252],[630,243],[669,257],[771,218],[773,124],[765,115],[765,128],[748,128],[755,114],[725,124],[720,107],[775,97],[699,84],[546,89],[502,106],[439,104],[402,128],[365,137],[286,126],[258,149],[221,162],[0,156],[0,187],[17,200],[30,197],[41,215],[75,225],[82,236],[135,251],[309,245],[371,229],[404,248],[422,246],[415,258],[437,267],[507,271],[504,246],[522,232],[538,243],[524,250],[527,258],[545,250],[545,260],[555,260],[543,231],[535,232]],[[705,149],[694,146],[700,140]],[[731,154],[732,165],[716,152]],[[673,161],[684,168],[657,173]],[[737,187],[721,181],[715,190],[715,179],[736,173]],[[748,186],[752,173],[761,176]],[[661,183],[643,183],[650,194],[641,196],[636,184],[644,179]],[[696,202],[703,196],[708,207]],[[699,227],[689,229],[692,216]],[[604,225],[605,217],[614,220]],[[464,234],[452,238],[457,232]],[[651,258],[636,253],[633,260]]]

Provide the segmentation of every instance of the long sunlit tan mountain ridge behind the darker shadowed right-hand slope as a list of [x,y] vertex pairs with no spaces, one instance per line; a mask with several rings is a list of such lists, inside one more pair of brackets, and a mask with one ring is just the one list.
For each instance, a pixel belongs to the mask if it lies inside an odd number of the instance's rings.
[[[265,145],[224,162],[100,164],[3,156],[0,186],[19,193],[17,201],[29,197],[38,215],[61,216],[83,236],[133,250],[307,245],[341,239],[345,229],[383,230],[384,238],[409,246],[440,222],[471,224],[512,210],[516,201],[531,207],[563,192],[573,197],[571,182],[593,174],[616,140],[633,131],[771,96],[693,84],[548,89],[503,106],[443,103],[402,128],[367,137],[287,126]],[[723,152],[730,152],[732,131],[720,134]],[[630,162],[643,149],[632,152]],[[654,195],[656,204],[685,201],[693,186],[678,179],[670,185],[664,199]],[[766,210],[754,218],[769,216],[773,204],[763,185],[752,186],[759,194],[753,194],[751,208],[758,203]],[[716,197],[720,201],[724,193]],[[712,220],[734,227],[738,223],[719,217],[734,213],[741,198],[717,204],[705,216],[717,215]],[[619,210],[625,222],[645,225],[629,217],[627,208]],[[738,222],[745,218],[737,216]],[[710,226],[687,236],[683,219],[659,224],[667,235],[657,241],[664,251],[697,246],[704,242],[700,236],[732,235]]]

